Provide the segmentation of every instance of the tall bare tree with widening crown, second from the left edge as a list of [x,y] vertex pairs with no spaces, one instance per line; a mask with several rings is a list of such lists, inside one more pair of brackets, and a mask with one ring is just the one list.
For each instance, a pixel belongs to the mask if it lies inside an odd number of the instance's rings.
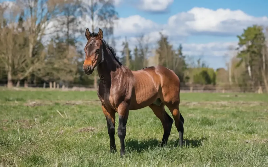
[[[39,55],[33,55],[34,48],[41,44],[41,40],[45,35],[45,31],[49,27],[50,21],[56,16],[59,11],[60,0],[17,0],[17,4],[24,12],[25,30],[28,33],[28,59],[27,68],[28,75],[25,80],[25,87],[30,81],[29,76],[36,70],[34,65],[39,63]],[[47,30],[48,31],[48,30]]]

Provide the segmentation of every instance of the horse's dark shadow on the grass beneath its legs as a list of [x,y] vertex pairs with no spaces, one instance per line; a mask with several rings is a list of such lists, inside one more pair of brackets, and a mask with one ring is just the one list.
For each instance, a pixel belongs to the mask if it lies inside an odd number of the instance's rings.
[[[200,147],[203,145],[203,141],[206,140],[206,137],[202,137],[200,139],[184,139],[183,145],[185,147]],[[157,139],[128,139],[126,140],[126,147],[128,147],[131,151],[136,152],[142,152],[144,150],[148,149],[154,149],[156,147],[160,147],[160,142]],[[174,147],[179,146],[179,139],[176,140],[170,140],[168,141],[167,145],[165,147],[169,147],[170,149],[173,149]]]

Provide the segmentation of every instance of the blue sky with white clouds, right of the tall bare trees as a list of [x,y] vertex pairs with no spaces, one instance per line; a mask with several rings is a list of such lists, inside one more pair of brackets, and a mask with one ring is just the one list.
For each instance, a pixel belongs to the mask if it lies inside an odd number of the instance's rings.
[[228,46],[237,44],[243,28],[268,25],[268,1],[263,0],[116,0],[116,6],[121,19],[116,35],[132,42],[144,32],[156,42],[156,32],[163,29],[175,47],[182,43],[186,55],[202,57],[214,69],[226,66]]

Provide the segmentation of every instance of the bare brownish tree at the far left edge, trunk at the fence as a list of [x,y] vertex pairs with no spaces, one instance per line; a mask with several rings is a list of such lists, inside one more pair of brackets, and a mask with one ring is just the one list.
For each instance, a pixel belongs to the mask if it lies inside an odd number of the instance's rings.
[[20,29],[20,18],[17,19],[20,8],[13,4],[12,6],[0,7],[0,62],[5,66],[8,79],[8,87],[13,86],[12,80],[18,79],[28,74],[24,69],[26,65],[26,56],[24,46],[25,34]]

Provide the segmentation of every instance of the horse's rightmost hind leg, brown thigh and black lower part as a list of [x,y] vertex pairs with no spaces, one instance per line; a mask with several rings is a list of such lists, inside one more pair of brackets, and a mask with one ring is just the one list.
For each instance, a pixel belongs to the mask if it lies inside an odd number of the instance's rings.
[[[183,127],[184,119],[183,119],[183,116],[180,114],[179,105],[178,104],[176,104],[176,105],[167,104],[166,106],[169,108],[169,110],[174,118],[175,126],[179,132],[179,143],[180,143],[180,146],[182,146],[183,145],[183,133],[184,133],[184,127]],[[181,120],[181,118],[183,120]]]

